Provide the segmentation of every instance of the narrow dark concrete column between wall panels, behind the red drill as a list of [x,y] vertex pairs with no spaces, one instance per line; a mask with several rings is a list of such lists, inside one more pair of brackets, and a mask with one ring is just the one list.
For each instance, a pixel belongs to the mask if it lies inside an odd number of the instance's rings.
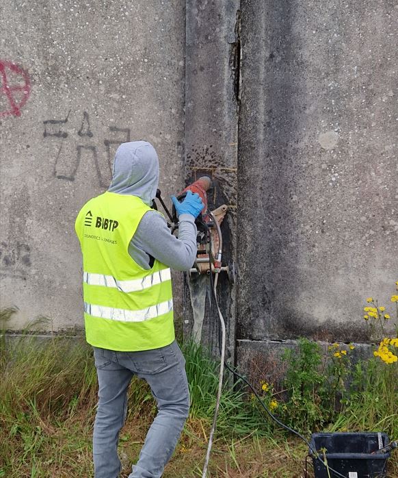
[[[210,209],[228,205],[222,224],[223,263],[228,264],[236,255],[239,1],[188,0],[186,15],[185,181],[210,175],[214,184],[209,194]],[[209,297],[209,277],[202,279],[204,284],[194,288],[194,294],[202,293],[198,302],[204,299],[206,287]],[[236,288],[221,275],[219,290],[227,320],[228,355],[233,357]],[[187,286],[184,301],[185,334],[189,334],[194,318]],[[207,299],[202,341],[213,348],[217,344],[218,320],[214,304]]]

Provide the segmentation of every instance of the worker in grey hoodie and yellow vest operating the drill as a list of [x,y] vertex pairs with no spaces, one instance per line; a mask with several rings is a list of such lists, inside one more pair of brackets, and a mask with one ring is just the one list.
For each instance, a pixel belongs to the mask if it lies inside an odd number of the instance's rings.
[[203,203],[187,192],[172,201],[178,238],[151,208],[159,160],[146,141],[120,144],[111,185],[90,199],[75,224],[83,254],[86,340],[94,347],[98,407],[95,478],[116,478],[118,438],[134,375],[147,381],[157,416],[129,478],[161,477],[189,412],[185,359],[174,338],[170,268],[187,271],[196,257],[195,218]]

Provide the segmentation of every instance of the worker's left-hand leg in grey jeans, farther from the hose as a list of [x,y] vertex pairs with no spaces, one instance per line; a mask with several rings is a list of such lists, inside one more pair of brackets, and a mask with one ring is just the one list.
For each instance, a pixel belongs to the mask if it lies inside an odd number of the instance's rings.
[[94,347],[98,375],[98,408],[94,422],[93,457],[95,478],[117,478],[119,431],[127,412],[127,388],[131,370],[118,364],[116,353]]

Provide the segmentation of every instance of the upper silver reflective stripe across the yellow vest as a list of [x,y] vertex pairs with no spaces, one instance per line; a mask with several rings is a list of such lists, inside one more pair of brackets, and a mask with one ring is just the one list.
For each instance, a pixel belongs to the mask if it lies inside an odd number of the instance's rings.
[[[113,275],[103,275],[94,273],[83,273],[83,282],[90,286],[103,286],[117,288],[120,292],[137,292],[152,286],[157,286],[161,282],[170,281],[172,279],[170,268],[162,269],[152,275],[147,275],[142,279],[131,279],[129,281],[118,281]],[[146,319],[144,319],[146,320]]]

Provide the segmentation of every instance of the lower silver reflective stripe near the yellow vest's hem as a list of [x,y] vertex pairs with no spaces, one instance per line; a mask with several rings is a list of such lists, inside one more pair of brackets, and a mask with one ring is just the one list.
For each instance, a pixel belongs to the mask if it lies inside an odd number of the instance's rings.
[[94,317],[108,318],[118,322],[143,322],[173,310],[173,301],[161,302],[142,310],[115,309],[114,307],[105,307],[104,305],[94,305],[84,303],[84,312]]

